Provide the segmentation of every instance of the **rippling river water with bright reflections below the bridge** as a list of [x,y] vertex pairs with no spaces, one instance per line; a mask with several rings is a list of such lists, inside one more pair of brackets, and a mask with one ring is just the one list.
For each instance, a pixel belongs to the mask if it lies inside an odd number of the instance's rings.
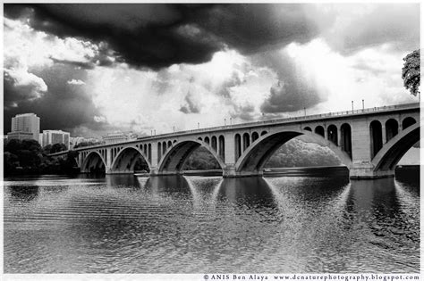
[[4,179],[4,273],[418,273],[418,171]]

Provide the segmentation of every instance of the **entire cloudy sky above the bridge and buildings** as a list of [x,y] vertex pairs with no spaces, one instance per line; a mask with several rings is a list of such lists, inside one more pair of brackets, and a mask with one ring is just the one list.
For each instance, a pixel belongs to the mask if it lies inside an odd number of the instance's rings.
[[4,4],[4,133],[25,112],[144,136],[418,102],[419,48],[419,4]]

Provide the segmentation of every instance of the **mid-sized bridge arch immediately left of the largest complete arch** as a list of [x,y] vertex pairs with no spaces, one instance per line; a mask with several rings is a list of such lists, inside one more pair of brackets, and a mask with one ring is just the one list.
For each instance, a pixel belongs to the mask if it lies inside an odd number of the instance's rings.
[[192,152],[194,152],[200,146],[205,147],[209,153],[211,153],[216,161],[218,162],[221,169],[225,168],[224,160],[214,151],[210,145],[205,145],[202,141],[197,139],[181,141],[169,149],[164,155],[161,161],[157,165],[158,173],[175,173],[181,171],[184,166],[184,162],[189,158]]

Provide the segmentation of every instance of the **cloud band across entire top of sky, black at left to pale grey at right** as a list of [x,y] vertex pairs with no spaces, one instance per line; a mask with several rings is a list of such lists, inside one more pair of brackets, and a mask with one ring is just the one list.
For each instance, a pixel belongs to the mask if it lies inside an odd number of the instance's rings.
[[420,44],[419,4],[5,4],[4,14],[47,34],[101,45],[89,58],[96,65],[155,70],[208,62],[227,47],[257,54],[316,38],[342,54]]

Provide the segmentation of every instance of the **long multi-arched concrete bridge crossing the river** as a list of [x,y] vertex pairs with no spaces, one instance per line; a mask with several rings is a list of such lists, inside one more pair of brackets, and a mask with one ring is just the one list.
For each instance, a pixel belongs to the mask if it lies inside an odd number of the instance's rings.
[[397,162],[420,140],[420,103],[200,128],[75,151],[82,173],[133,173],[141,157],[150,176],[159,176],[181,173],[201,146],[215,157],[225,178],[262,176],[272,154],[296,136],[330,148],[349,169],[350,178],[393,177]]

